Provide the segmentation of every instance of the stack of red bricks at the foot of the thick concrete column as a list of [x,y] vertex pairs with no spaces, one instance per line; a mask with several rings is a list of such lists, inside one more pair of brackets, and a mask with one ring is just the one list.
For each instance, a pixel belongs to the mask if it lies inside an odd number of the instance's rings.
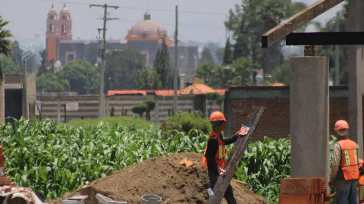
[[331,198],[325,179],[282,179],[278,204],[330,204]]

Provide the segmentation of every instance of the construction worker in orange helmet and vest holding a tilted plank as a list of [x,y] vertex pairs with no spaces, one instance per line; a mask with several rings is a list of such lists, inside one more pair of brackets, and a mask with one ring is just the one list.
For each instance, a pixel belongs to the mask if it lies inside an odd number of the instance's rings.
[[[223,138],[221,131],[225,127],[225,116],[220,111],[215,111],[210,116],[210,123],[212,126],[212,131],[209,139],[207,139],[207,145],[205,152],[202,157],[202,167],[208,169],[210,185],[213,189],[220,175],[224,175],[225,170],[225,156],[226,150],[225,145],[232,144],[236,142],[238,135],[244,136],[245,134],[240,134],[238,131],[235,135]],[[227,204],[236,204],[236,200],[233,195],[233,188],[229,184],[227,187],[224,197]]]

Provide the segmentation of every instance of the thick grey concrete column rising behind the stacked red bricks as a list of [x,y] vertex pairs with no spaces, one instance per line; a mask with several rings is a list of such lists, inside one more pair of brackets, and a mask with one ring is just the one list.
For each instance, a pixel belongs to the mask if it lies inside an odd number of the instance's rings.
[[326,57],[291,57],[291,177],[329,179],[329,85]]

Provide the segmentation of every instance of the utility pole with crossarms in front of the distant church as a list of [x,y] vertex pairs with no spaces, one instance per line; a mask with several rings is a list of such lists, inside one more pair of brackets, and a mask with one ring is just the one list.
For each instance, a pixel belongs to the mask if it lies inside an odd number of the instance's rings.
[[99,97],[99,118],[102,118],[105,114],[105,106],[104,106],[104,74],[105,74],[105,66],[106,66],[106,21],[110,20],[118,20],[118,18],[108,18],[107,17],[107,8],[114,8],[118,9],[118,6],[108,6],[107,4],[99,5],[99,4],[91,4],[90,7],[103,7],[104,8],[104,17],[102,20],[104,20],[104,26],[102,29],[102,45],[101,45],[101,65],[100,65],[100,97]]

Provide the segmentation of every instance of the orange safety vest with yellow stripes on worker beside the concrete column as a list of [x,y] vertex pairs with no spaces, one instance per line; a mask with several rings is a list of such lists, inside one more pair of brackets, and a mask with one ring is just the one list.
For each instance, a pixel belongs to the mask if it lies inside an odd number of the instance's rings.
[[341,169],[345,180],[359,179],[358,147],[349,139],[337,142],[341,148]]

